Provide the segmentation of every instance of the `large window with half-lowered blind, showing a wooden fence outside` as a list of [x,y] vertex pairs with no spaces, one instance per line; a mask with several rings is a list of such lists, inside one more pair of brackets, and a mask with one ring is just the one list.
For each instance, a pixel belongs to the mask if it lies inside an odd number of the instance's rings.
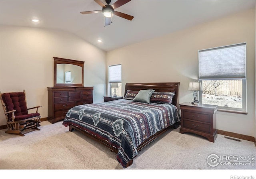
[[200,102],[246,112],[246,43],[198,51]]

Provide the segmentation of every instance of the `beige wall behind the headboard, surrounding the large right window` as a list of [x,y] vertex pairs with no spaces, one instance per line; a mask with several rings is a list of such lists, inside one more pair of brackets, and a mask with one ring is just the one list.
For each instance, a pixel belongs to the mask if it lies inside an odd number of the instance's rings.
[[253,8],[107,52],[106,65],[122,64],[123,89],[126,83],[180,82],[180,103],[191,102],[188,83],[198,79],[198,50],[246,42],[248,114],[217,112],[217,129],[254,136],[254,11]]

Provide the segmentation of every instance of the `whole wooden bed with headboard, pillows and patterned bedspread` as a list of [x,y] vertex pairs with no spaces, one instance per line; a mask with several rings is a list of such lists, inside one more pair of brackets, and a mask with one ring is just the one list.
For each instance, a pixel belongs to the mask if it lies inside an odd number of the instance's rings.
[[[123,99],[75,106],[62,124],[107,146],[117,153],[119,163],[128,167],[138,151],[180,125],[179,85],[126,83]],[[150,97],[144,101],[142,93]]]

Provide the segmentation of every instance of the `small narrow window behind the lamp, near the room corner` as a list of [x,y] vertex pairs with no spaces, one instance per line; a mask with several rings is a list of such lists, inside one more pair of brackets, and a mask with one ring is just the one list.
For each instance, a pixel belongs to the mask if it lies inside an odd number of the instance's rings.
[[122,96],[122,65],[110,65],[108,66],[108,83],[110,95],[114,95],[114,90],[111,88],[112,83],[118,83],[118,89],[116,89],[116,95]]

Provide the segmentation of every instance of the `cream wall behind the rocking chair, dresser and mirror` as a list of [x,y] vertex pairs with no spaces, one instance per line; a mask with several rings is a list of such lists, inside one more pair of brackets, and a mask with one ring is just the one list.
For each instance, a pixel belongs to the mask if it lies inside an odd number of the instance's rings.
[[[59,30],[0,26],[0,91],[26,90],[28,107],[42,106],[42,118],[48,117],[47,87],[54,86],[52,57],[85,61],[84,86],[94,87],[94,103],[103,102],[106,52]],[[5,124],[1,107],[0,126]]]

